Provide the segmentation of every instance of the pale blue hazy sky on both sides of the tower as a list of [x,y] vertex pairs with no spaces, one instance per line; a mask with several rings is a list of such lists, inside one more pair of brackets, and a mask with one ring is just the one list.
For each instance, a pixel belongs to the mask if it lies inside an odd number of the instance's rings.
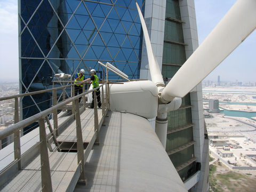
[[[18,1],[0,0],[0,80],[18,80]],[[210,34],[234,0],[195,0],[199,44]],[[256,31],[237,47],[206,80],[256,82]]]

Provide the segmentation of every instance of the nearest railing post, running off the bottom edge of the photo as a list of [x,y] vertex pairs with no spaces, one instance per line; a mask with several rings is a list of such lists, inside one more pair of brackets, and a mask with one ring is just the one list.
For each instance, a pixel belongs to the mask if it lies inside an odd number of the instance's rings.
[[49,163],[49,155],[47,149],[46,132],[44,119],[39,119],[39,135],[40,135],[40,157],[41,157],[41,181],[42,191],[52,191],[52,179]]

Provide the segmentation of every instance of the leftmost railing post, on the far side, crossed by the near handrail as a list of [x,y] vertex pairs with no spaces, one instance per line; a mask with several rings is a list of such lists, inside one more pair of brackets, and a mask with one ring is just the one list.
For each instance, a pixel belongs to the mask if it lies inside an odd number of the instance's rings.
[[[19,99],[15,98],[14,123],[19,122]],[[14,132],[14,159],[18,159],[18,169],[21,170],[20,131]]]

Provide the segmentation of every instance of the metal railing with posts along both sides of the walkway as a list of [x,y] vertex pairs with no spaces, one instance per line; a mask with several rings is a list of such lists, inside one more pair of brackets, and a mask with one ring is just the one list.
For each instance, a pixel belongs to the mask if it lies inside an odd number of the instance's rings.
[[[53,84],[54,86],[54,84]],[[72,96],[71,98],[66,99],[65,97],[65,88],[68,86],[73,86]],[[50,163],[49,163],[49,154],[48,149],[49,148],[49,142],[47,141],[47,135],[46,135],[46,129],[45,129],[45,122],[49,125],[49,130],[53,136],[53,141],[55,145],[57,145],[58,151],[60,151],[60,147],[58,146],[58,142],[56,139],[56,136],[58,135],[58,114],[57,110],[63,108],[68,103],[72,102],[72,112],[74,115],[74,118],[76,119],[76,135],[77,135],[77,162],[80,169],[80,176],[79,180],[83,181],[85,180],[85,172],[84,172],[84,163],[89,156],[90,150],[92,149],[92,146],[94,142],[99,142],[99,127],[103,123],[103,118],[106,116],[107,110],[110,107],[109,103],[109,83],[103,83],[99,87],[92,89],[90,91],[84,92],[84,86],[83,86],[83,93],[74,96],[74,86],[75,84],[71,85],[64,85],[61,87],[53,87],[52,89],[48,90],[42,90],[42,91],[36,91],[36,92],[30,92],[30,93],[23,93],[18,95],[12,95],[9,97],[3,97],[0,98],[0,101],[6,100],[6,99],[15,99],[15,112],[14,112],[14,123],[13,125],[10,125],[6,129],[0,131],[0,140],[8,137],[11,134],[14,134],[14,161],[18,162],[18,169],[21,170],[21,150],[20,150],[20,130],[27,127],[30,124],[33,124],[35,122],[39,123],[39,145],[40,145],[40,155],[41,155],[41,178],[42,178],[42,191],[52,191],[52,182],[51,182],[51,172],[50,172]],[[106,94],[104,94],[103,86],[105,86]],[[57,102],[57,90],[62,89],[62,101],[60,103]],[[97,97],[96,97],[96,90],[101,89],[101,101],[102,101],[102,119],[99,123],[98,119],[98,109],[97,109]],[[46,109],[44,111],[41,111],[37,113],[36,115],[33,115],[31,117],[28,117],[27,119],[24,119],[19,122],[19,108],[18,108],[18,98],[25,97],[28,95],[38,94],[38,93],[44,93],[52,91],[53,94],[53,106],[49,109]],[[83,145],[83,137],[82,137],[82,126],[81,126],[81,119],[80,119],[80,107],[78,103],[79,98],[83,98],[83,107],[85,109],[86,100],[85,95],[93,92],[94,94],[94,134],[92,137],[92,140],[90,141],[89,145],[87,146],[86,150],[84,151],[84,145]],[[64,95],[64,96],[63,96]],[[106,95],[106,97],[104,97]],[[51,123],[49,121],[48,115],[53,114],[53,129],[51,126]]]

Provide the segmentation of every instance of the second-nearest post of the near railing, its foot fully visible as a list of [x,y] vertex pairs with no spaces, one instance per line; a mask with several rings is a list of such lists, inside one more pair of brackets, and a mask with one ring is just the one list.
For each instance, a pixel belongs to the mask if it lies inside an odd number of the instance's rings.
[[77,163],[81,162],[81,175],[79,177],[80,181],[85,182],[85,172],[84,172],[84,143],[82,135],[81,118],[79,113],[79,103],[78,99],[75,100],[75,111],[76,111],[76,146],[77,146]]

